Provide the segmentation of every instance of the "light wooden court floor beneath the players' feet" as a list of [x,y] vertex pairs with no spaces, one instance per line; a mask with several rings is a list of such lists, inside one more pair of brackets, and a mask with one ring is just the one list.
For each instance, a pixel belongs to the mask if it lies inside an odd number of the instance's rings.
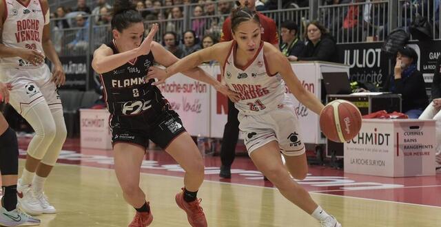
[[[154,215],[151,226],[189,226],[174,202],[181,186],[181,177],[141,175]],[[127,226],[134,215],[112,169],[57,164],[45,193],[59,213],[39,216],[41,226]],[[209,226],[320,226],[274,188],[205,181],[198,196]],[[320,193],[312,197],[343,226],[441,226],[441,208],[436,206]]]

